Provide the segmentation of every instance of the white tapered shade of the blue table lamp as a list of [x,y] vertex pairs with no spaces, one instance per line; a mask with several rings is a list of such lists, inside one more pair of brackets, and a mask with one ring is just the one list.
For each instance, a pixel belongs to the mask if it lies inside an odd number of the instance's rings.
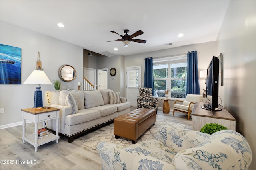
[[52,84],[50,79],[42,70],[34,70],[23,84]]

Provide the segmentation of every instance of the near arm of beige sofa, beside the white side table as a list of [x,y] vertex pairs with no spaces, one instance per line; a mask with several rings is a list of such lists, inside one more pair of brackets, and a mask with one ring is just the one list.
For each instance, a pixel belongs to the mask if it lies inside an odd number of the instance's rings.
[[[67,115],[72,114],[72,107],[63,106],[63,105],[59,105],[59,104],[50,104],[50,105],[46,105],[46,106],[50,106],[50,107],[60,109],[59,132],[64,134],[65,118],[66,118]],[[52,129],[52,130],[56,131],[56,119],[47,121],[47,127],[49,129]]]

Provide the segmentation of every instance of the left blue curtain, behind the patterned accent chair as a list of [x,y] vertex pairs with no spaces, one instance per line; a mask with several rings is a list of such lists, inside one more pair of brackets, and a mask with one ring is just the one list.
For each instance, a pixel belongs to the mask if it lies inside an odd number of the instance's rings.
[[154,79],[153,79],[153,58],[145,58],[144,87],[152,88],[154,96]]

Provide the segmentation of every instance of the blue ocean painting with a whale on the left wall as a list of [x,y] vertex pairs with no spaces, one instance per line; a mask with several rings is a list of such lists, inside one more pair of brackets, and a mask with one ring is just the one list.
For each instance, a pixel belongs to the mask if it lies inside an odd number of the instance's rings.
[[21,83],[21,48],[0,44],[0,84]]

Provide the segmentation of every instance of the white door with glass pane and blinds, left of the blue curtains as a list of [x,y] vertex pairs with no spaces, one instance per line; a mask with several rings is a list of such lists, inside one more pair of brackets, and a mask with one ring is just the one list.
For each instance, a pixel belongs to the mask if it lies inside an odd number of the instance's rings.
[[126,67],[126,98],[132,106],[137,106],[140,88],[140,66]]

